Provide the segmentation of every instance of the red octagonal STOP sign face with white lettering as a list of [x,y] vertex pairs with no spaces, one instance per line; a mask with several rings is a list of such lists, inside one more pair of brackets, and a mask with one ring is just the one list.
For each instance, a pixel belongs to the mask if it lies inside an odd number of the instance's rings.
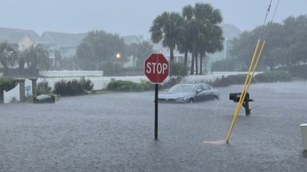
[[161,84],[170,74],[170,63],[163,54],[153,53],[145,60],[144,74],[154,84]]

